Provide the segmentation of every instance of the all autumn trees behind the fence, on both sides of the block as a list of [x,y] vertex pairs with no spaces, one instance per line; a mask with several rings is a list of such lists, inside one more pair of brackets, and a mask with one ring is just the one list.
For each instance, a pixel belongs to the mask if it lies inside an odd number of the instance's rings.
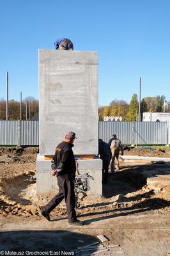
[[[145,97],[141,100],[141,120],[144,112],[162,112],[164,109],[164,95],[157,97]],[[26,97],[22,100],[22,120],[29,120],[38,113],[39,102],[34,97]],[[26,108],[27,106],[27,108]],[[137,94],[133,94],[130,104],[125,100],[112,100],[109,106],[98,108],[99,120],[104,120],[104,116],[121,116],[123,121],[136,121],[138,116],[139,102]],[[27,111],[26,111],[27,109]],[[29,116],[30,109],[30,116]],[[27,115],[26,115],[27,113]],[[0,120],[6,120],[6,100],[0,100]],[[20,120],[20,102],[9,100],[8,120]]]

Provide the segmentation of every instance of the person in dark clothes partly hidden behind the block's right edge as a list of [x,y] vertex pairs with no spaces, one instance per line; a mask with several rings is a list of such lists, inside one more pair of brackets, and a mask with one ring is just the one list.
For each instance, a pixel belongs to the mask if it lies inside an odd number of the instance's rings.
[[111,149],[109,144],[102,139],[98,140],[98,154],[100,155],[100,159],[102,159],[102,182],[107,184],[109,163],[111,161]]

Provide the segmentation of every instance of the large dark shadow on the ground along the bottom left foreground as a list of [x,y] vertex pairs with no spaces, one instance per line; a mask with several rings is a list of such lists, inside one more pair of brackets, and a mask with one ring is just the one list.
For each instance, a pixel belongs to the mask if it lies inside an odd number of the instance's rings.
[[[79,234],[75,232],[62,231],[34,231],[21,230],[11,232],[0,232],[0,250],[1,251],[54,251],[66,252],[63,255],[81,255],[75,253],[77,247],[86,246],[98,242],[94,236]],[[98,246],[98,245],[97,245]],[[91,250],[93,253],[97,249]],[[69,254],[67,252],[74,252]],[[30,254],[31,255],[31,254]],[[48,255],[48,254],[47,254]],[[49,254],[50,255],[50,254]],[[62,254],[51,254],[62,255]]]

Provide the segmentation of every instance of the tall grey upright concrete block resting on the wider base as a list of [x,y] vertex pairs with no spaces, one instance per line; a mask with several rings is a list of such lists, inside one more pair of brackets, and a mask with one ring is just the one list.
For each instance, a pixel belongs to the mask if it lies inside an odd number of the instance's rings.
[[39,50],[40,155],[74,131],[76,155],[98,154],[97,52]]

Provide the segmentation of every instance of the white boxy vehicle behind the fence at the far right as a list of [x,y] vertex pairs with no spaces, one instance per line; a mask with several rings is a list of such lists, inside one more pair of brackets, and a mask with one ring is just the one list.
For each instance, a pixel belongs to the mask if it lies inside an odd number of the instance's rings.
[[143,122],[170,122],[170,113],[144,112]]

